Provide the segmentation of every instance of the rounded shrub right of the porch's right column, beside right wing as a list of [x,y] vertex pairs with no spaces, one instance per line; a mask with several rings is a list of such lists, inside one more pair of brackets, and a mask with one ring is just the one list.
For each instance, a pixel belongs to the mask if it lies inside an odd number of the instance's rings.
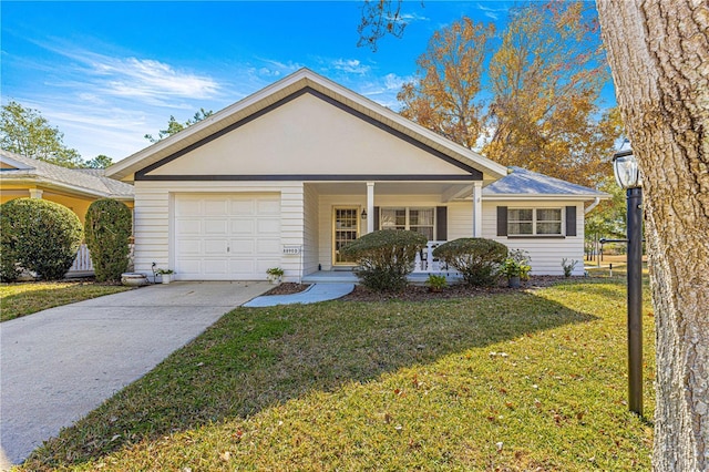
[[469,285],[494,285],[500,265],[507,257],[507,246],[479,237],[460,238],[433,249],[433,257],[454,267]]

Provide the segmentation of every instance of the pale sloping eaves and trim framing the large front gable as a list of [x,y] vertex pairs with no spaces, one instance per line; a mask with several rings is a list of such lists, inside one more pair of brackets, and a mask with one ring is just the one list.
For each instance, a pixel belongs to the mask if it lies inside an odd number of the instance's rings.
[[187,148],[199,146],[205,140],[228,132],[230,125],[246,119],[256,117],[260,113],[267,112],[270,105],[304,90],[314,90],[327,96],[329,100],[356,110],[384,126],[393,129],[410,138],[450,156],[454,161],[474,167],[483,174],[485,181],[500,178],[507,172],[506,167],[413,123],[386,106],[318,75],[308,69],[300,69],[287,78],[227,106],[179,133],[166,137],[117,162],[106,170],[106,175],[131,181],[134,178],[136,172],[156,164],[163,158],[183,153]]

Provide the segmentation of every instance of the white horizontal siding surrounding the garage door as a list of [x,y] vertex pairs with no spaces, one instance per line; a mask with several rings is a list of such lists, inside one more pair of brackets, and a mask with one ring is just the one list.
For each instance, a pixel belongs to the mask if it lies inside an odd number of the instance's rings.
[[[174,267],[173,205],[175,194],[280,193],[281,246],[304,245],[304,185],[301,182],[136,182],[135,271],[152,275],[157,267]],[[282,255],[286,280],[297,280],[300,257]],[[176,274],[179,279],[179,274]],[[266,274],[264,274],[266,279]]]

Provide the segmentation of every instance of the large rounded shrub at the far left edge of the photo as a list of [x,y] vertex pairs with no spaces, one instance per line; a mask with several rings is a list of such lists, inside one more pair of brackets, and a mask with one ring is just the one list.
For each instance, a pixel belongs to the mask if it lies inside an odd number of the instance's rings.
[[21,269],[59,280],[76,258],[82,228],[71,209],[39,198],[17,198],[0,206],[1,277],[17,279]]

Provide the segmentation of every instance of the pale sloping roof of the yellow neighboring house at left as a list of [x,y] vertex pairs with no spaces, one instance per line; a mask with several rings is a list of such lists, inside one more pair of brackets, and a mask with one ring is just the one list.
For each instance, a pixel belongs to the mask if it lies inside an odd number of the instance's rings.
[[0,182],[32,183],[71,193],[119,199],[133,198],[133,185],[105,176],[104,170],[68,168],[0,150]]

